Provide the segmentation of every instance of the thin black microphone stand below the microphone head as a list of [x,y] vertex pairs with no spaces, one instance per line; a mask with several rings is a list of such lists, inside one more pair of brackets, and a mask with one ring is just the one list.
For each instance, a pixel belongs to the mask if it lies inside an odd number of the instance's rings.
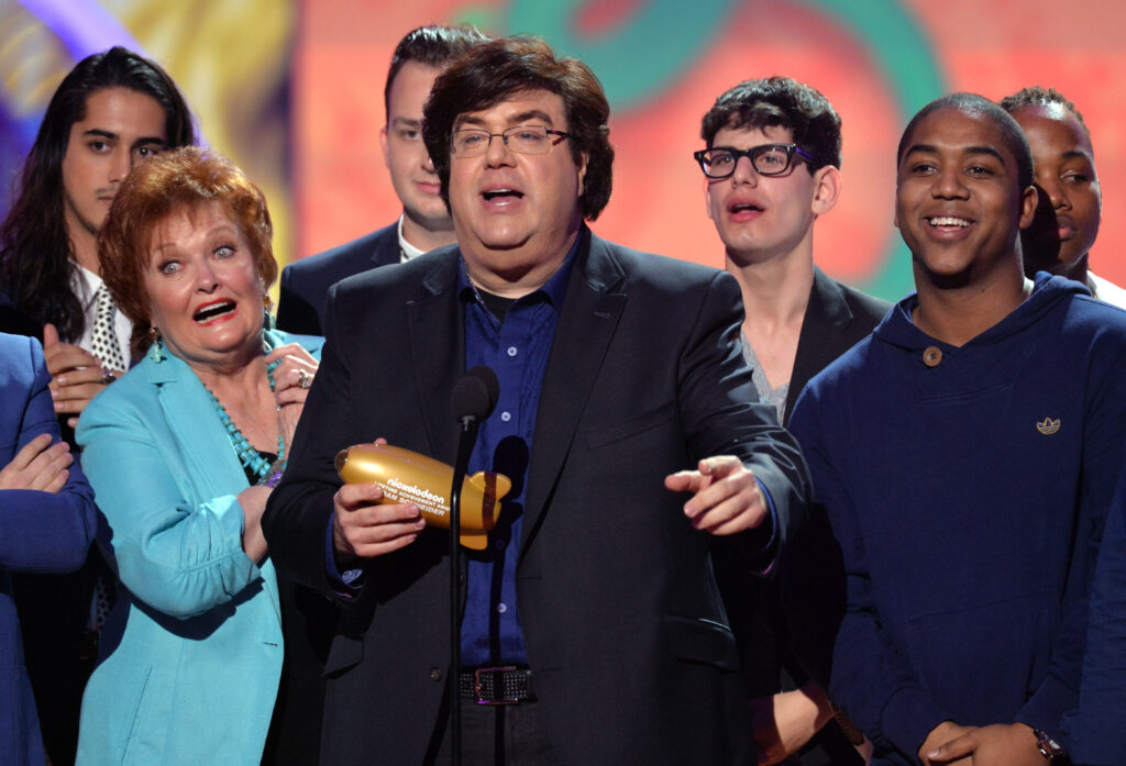
[[461,418],[462,432],[454,462],[454,486],[449,492],[449,741],[454,766],[462,766],[462,483],[468,470],[470,454],[477,440],[477,418]]

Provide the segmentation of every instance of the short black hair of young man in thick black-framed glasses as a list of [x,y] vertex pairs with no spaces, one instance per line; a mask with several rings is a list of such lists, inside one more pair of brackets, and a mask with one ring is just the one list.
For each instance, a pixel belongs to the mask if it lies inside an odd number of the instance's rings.
[[723,93],[704,115],[700,138],[712,147],[724,128],[781,127],[815,157],[810,172],[841,166],[841,118],[821,91],[784,76],[745,80]]

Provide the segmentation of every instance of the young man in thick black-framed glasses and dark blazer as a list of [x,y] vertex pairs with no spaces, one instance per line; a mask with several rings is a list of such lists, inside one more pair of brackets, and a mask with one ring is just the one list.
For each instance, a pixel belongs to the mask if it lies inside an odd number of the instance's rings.
[[[720,96],[704,116],[700,137],[707,148],[695,157],[705,175],[707,214],[743,294],[743,354],[758,395],[785,425],[806,381],[868,335],[891,308],[814,264],[814,224],[841,193],[841,121],[820,92],[774,76],[741,82]],[[794,593],[785,606],[778,579],[745,569],[718,571],[741,639],[756,739],[769,763],[863,763],[811,679],[817,668],[806,668],[828,664],[828,639],[843,609],[842,601],[832,603],[812,585],[820,564],[817,556],[795,561],[790,555],[783,574]],[[802,596],[799,585],[808,588]],[[804,649],[803,661],[795,648]]]

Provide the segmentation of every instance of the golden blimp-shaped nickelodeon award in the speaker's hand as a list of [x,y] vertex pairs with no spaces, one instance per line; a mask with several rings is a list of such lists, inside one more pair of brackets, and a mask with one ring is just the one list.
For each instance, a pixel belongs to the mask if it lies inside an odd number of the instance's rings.
[[[337,472],[345,484],[375,483],[381,503],[413,503],[428,526],[449,529],[449,490],[454,467],[412,450],[390,444],[355,444],[337,454]],[[461,542],[484,550],[500,516],[500,498],[512,488],[503,474],[479,471],[462,481]]]

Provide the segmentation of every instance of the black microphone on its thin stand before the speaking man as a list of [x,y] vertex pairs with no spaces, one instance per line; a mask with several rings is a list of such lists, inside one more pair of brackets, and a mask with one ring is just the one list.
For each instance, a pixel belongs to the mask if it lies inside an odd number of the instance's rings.
[[457,460],[454,462],[454,485],[449,489],[449,695],[450,758],[454,766],[462,763],[462,709],[459,678],[462,672],[462,565],[457,541],[462,524],[462,481],[470,467],[470,454],[477,441],[477,429],[492,414],[500,398],[497,373],[477,364],[454,386],[450,408],[454,420],[462,426],[457,441]]

